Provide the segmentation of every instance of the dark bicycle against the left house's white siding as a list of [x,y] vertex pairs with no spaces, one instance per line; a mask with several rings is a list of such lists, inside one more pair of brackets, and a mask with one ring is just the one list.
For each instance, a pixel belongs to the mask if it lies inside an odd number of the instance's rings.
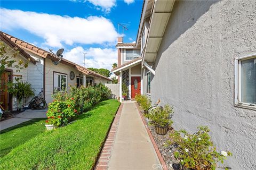
[[45,109],[47,107],[42,91],[30,100],[28,106],[30,109]]

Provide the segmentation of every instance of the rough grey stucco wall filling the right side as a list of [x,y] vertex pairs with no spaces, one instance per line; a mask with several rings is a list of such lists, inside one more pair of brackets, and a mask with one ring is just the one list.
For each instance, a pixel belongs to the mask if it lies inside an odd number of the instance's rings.
[[178,1],[159,47],[151,99],[174,129],[211,129],[232,169],[256,169],[256,111],[234,107],[234,58],[256,51],[256,1]]

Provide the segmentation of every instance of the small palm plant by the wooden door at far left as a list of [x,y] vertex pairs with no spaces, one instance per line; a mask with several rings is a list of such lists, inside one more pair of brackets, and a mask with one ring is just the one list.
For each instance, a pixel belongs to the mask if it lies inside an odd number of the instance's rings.
[[17,98],[18,109],[20,111],[21,100],[27,99],[30,96],[34,96],[35,93],[31,88],[31,84],[28,82],[19,81],[17,83],[12,83],[8,88],[8,92]]

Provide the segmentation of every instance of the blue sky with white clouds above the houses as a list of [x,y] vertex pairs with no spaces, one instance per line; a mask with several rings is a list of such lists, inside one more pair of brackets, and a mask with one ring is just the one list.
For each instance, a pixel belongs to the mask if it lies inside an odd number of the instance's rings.
[[[117,23],[131,22],[124,41],[136,40],[143,1],[1,1],[1,31],[86,67],[117,62]],[[122,29],[120,28],[120,32]]]

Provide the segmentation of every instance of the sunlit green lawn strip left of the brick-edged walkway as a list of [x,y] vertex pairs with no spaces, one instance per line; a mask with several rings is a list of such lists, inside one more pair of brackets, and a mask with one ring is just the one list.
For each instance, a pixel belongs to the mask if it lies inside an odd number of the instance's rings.
[[0,169],[91,169],[119,105],[102,101],[76,122],[36,135],[1,157]]

